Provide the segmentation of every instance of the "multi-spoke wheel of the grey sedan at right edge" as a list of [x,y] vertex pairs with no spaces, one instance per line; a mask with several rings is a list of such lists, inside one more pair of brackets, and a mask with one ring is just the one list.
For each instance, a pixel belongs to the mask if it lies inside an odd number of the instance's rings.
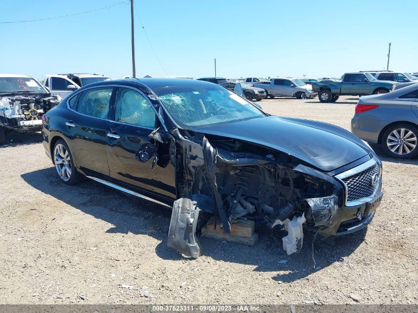
[[418,154],[417,138],[416,126],[400,123],[383,133],[381,144],[383,151],[392,158],[410,159]]

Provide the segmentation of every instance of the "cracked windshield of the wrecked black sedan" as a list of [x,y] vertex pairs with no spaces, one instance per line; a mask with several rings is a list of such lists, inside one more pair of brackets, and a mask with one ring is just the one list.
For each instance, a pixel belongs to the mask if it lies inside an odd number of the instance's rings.
[[175,122],[186,129],[264,117],[236,93],[214,84],[153,89]]

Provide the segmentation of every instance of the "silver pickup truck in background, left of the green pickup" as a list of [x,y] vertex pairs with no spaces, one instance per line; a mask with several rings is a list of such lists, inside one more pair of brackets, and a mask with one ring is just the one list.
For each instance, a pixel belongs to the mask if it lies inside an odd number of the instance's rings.
[[312,91],[312,86],[307,85],[297,78],[272,78],[270,82],[254,84],[254,87],[266,90],[270,98],[296,97],[297,99],[313,99],[318,94]]

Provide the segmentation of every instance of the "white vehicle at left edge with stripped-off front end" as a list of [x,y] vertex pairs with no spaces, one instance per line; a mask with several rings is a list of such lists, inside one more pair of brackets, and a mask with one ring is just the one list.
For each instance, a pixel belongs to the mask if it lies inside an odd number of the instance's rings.
[[44,113],[60,101],[33,77],[0,74],[0,144],[6,133],[41,131]]

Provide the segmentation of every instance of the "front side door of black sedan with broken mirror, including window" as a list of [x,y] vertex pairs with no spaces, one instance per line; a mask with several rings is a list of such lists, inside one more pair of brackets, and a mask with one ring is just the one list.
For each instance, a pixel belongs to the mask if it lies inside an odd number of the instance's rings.
[[[113,112],[114,122],[106,138],[111,178],[138,188],[145,196],[174,200],[176,179],[168,157],[170,142],[157,142],[149,137],[160,125],[152,104],[139,90],[120,87]],[[151,157],[154,147],[161,162]],[[150,157],[148,160],[142,159],[143,151]]]

